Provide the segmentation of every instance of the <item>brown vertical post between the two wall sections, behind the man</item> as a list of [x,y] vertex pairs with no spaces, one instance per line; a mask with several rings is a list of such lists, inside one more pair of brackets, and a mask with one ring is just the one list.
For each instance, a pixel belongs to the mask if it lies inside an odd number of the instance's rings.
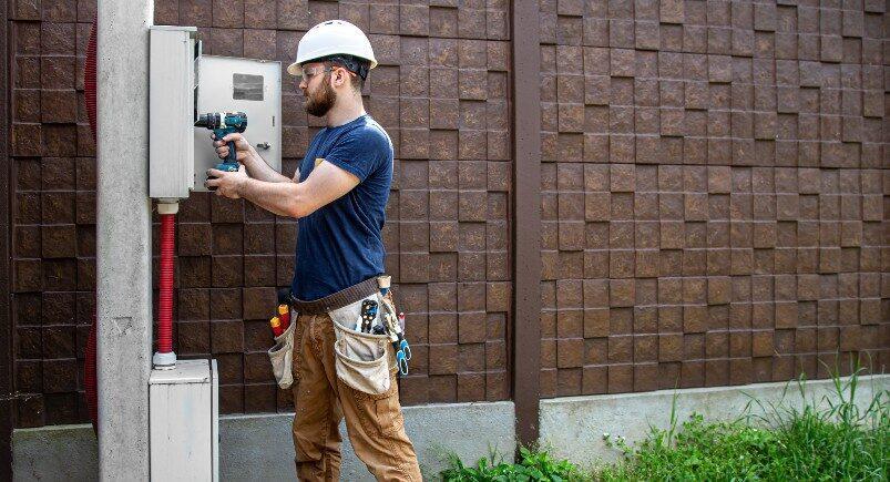
[[511,10],[513,134],[513,402],[516,438],[538,440],[541,371],[541,59],[538,0]]

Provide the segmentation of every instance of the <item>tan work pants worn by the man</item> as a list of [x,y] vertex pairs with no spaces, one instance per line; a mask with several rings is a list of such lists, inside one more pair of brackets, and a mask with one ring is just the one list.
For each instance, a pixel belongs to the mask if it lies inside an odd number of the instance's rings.
[[[405,433],[396,372],[381,394],[358,391],[337,377],[334,321],[297,319],[294,342],[294,448],[297,478],[336,481],[340,474],[340,420],[356,455],[379,481],[421,481],[415,448]],[[387,346],[390,351],[392,347]]]

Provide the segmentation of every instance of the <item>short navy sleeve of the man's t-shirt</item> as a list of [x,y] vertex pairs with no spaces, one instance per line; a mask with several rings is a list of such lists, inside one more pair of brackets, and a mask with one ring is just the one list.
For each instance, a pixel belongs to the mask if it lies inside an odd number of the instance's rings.
[[389,158],[392,146],[383,133],[372,127],[348,133],[325,156],[325,161],[365,181]]

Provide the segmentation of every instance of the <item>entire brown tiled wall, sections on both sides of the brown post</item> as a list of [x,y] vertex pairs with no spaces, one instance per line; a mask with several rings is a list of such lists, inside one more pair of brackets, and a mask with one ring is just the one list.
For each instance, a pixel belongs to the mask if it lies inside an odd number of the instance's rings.
[[[524,0],[523,0],[524,1]],[[538,0],[532,0],[538,1]],[[17,427],[88,419],[95,0],[8,0]],[[392,137],[387,270],[406,404],[512,397],[508,0],[155,0],[204,52],[282,62],[331,18],[368,32]],[[890,42],[876,0],[541,0],[541,396],[826,377],[890,360]],[[283,170],[321,127],[283,72]],[[518,122],[521,122],[518,121]],[[122,140],[122,142],[137,140]],[[157,221],[157,219],[155,219]],[[226,413],[290,411],[265,350],[297,224],[193,194],[175,350]],[[157,229],[155,229],[155,236]],[[155,239],[155,254],[157,239]],[[4,274],[6,275],[6,274]]]

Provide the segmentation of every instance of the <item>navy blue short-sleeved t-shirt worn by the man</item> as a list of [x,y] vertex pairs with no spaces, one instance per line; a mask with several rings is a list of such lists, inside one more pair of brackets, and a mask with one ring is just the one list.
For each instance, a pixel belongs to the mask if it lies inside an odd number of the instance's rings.
[[325,160],[355,174],[359,184],[345,196],[298,221],[290,289],[314,300],[383,273],[383,238],[392,141],[369,115],[325,127],[313,137],[299,166],[304,182]]

